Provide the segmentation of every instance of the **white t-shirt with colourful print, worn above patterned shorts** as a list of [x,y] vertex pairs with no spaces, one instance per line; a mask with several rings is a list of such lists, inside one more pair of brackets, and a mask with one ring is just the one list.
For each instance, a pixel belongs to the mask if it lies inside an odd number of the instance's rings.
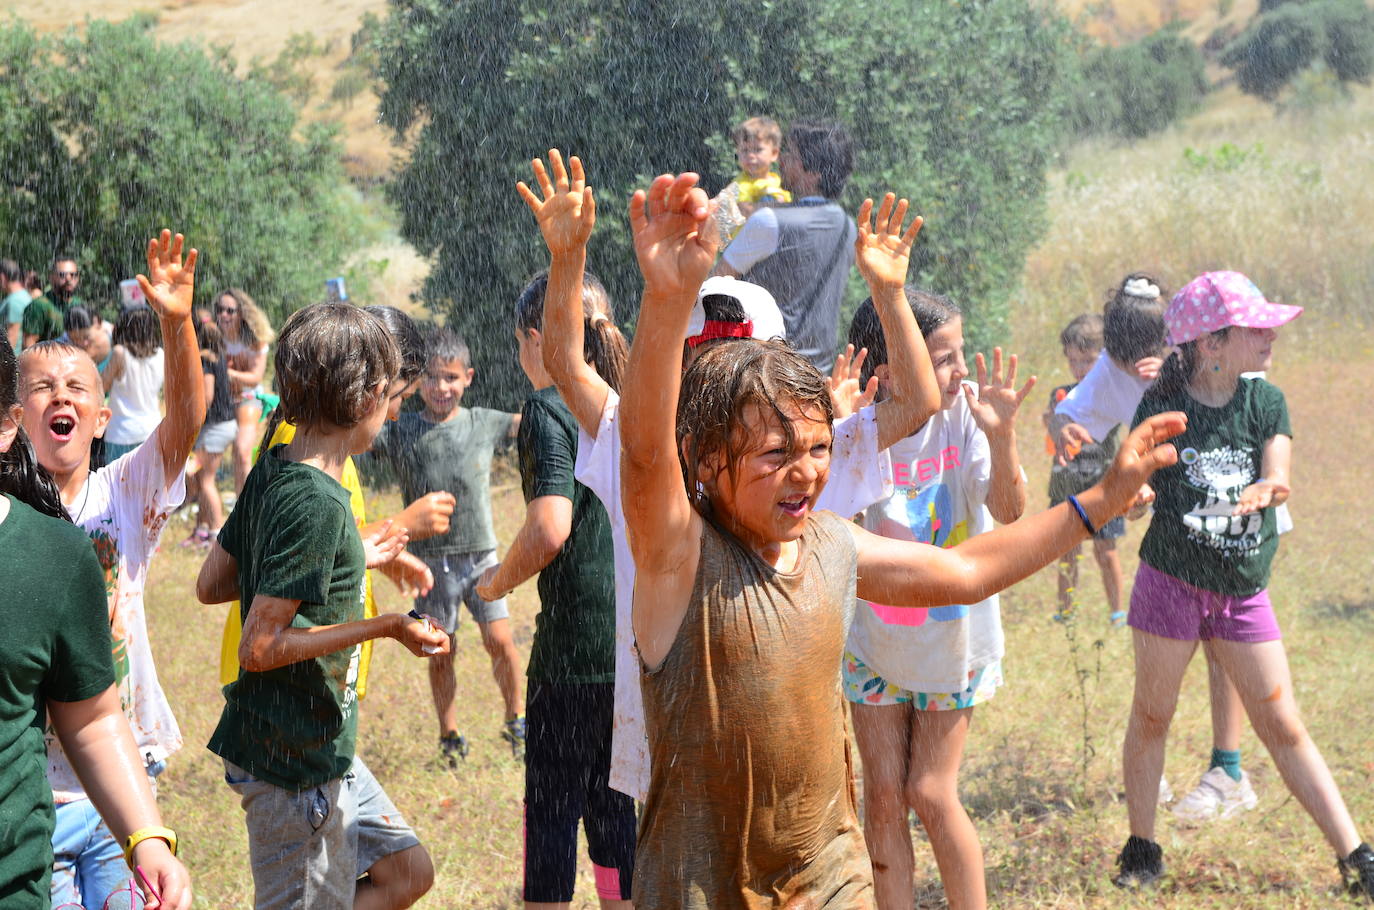
[[[992,528],[992,514],[984,506],[992,455],[962,395],[888,455],[894,491],[868,507],[864,528],[937,547],[954,547]],[[963,691],[970,674],[1003,656],[998,595],[930,609],[859,601],[848,647],[903,689]]]

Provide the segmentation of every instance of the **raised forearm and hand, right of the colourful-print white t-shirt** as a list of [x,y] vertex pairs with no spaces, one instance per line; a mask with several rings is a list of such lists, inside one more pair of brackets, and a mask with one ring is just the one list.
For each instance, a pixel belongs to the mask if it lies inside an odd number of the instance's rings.
[[1007,362],[1002,373],[1002,348],[992,349],[992,375],[982,355],[977,356],[978,395],[963,386],[965,399],[974,423],[988,437],[992,455],[992,477],[988,484],[988,511],[1004,525],[1021,517],[1026,507],[1026,482],[1021,476],[1021,456],[1017,454],[1017,411],[1035,388],[1036,378],[1017,389],[1017,356]]

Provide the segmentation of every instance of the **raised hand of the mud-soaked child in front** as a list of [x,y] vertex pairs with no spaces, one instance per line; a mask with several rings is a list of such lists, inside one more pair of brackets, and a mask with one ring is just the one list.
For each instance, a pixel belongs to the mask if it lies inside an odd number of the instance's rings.
[[710,205],[698,180],[695,173],[665,173],[647,192],[636,190],[629,198],[629,227],[644,294],[690,296],[695,301],[716,261],[720,231],[710,221]]

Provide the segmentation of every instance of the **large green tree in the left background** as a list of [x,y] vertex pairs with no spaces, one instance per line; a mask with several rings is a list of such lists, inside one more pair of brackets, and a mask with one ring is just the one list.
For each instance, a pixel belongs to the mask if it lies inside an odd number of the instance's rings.
[[159,44],[151,23],[0,27],[5,254],[41,271],[70,252],[109,301],[172,227],[202,252],[202,300],[240,286],[275,320],[320,300],[363,231],[334,132],[235,77],[227,49]]

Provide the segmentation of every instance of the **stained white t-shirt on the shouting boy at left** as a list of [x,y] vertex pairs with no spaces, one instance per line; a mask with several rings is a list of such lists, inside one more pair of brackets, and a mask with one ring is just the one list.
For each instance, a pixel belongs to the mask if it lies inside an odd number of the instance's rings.
[[[120,704],[133,729],[133,741],[144,763],[162,762],[181,748],[181,730],[148,647],[143,613],[143,586],[148,561],[172,510],[185,499],[185,474],[170,484],[162,470],[157,439],[87,477],[73,499],[71,520],[89,535],[110,598],[110,638],[114,641],[114,682]],[[85,790],[49,729],[48,784],[56,803],[85,799]]]

